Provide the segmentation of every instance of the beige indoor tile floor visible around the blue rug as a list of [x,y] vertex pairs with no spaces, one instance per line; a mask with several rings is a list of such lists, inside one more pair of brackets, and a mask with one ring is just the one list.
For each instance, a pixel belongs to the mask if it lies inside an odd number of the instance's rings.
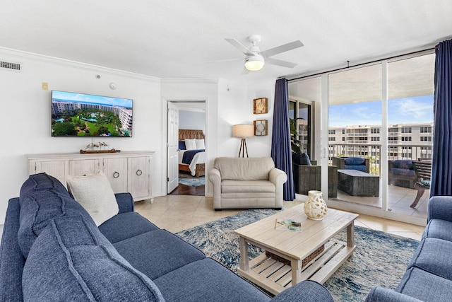
[[[301,201],[284,202],[284,207],[289,208]],[[214,221],[225,216],[238,213],[242,210],[213,210],[211,197],[189,195],[167,195],[156,197],[154,203],[144,200],[135,203],[135,211],[145,216],[160,228],[165,228],[172,233],[192,228],[208,221]],[[364,226],[375,230],[384,231],[397,236],[420,240],[423,226],[415,226],[379,217],[360,214],[355,221],[356,226]]]

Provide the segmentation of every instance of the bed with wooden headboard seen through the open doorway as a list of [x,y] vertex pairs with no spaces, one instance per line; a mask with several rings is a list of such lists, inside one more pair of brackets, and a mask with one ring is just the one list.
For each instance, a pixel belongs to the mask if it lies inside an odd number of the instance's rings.
[[[202,149],[186,150],[185,140],[202,140]],[[179,170],[190,172],[192,176],[199,178],[205,175],[206,151],[204,147],[205,136],[203,130],[179,129]],[[182,144],[182,142],[184,142]],[[190,149],[190,148],[189,148]],[[184,156],[185,155],[185,156]],[[184,158],[185,157],[185,158]]]

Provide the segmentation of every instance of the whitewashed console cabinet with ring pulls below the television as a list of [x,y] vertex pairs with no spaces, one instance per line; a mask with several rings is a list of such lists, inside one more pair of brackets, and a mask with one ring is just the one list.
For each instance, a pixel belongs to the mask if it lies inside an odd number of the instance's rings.
[[115,193],[130,192],[134,201],[151,199],[151,158],[153,151],[117,153],[53,153],[27,155],[31,174],[45,172],[66,186],[66,176],[107,175]]

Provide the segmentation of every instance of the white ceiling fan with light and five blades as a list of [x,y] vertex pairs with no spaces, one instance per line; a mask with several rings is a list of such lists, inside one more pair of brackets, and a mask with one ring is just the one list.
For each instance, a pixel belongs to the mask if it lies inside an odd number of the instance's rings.
[[278,47],[270,48],[269,50],[264,50],[261,52],[261,50],[258,47],[258,42],[261,42],[261,36],[260,35],[250,35],[248,37],[249,42],[252,43],[252,46],[247,48],[242,43],[235,39],[226,39],[227,42],[230,42],[234,47],[237,47],[237,49],[241,52],[243,52],[245,57],[245,68],[248,71],[258,71],[261,70],[263,65],[265,63],[283,66],[287,68],[294,68],[297,66],[295,63],[286,62],[280,59],[273,59],[270,58],[271,56],[274,56],[275,54],[280,54],[282,52],[288,52],[289,50],[295,50],[296,48],[304,46],[302,42],[299,40],[287,43],[285,45],[280,45]]

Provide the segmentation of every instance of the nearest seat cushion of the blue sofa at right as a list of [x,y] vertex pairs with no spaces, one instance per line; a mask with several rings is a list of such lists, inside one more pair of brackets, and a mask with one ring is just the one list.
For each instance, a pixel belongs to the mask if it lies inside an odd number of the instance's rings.
[[411,268],[403,275],[396,291],[421,301],[450,301],[452,281],[422,269]]

